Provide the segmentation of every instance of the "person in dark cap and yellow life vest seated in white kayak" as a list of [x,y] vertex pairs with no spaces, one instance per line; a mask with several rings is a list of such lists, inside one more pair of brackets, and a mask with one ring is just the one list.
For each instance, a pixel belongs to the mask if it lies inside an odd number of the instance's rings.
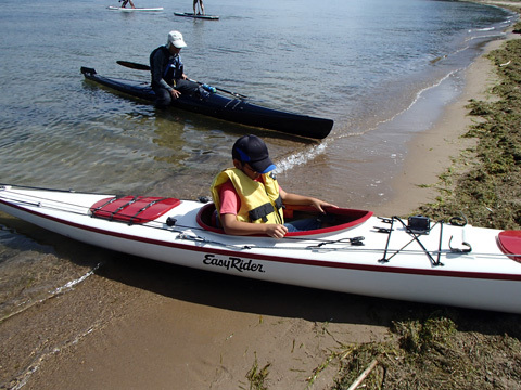
[[268,148],[256,135],[241,136],[231,152],[234,168],[216,176],[211,191],[225,233],[266,234],[282,238],[289,232],[320,229],[323,218],[308,218],[284,223],[284,205],[313,206],[322,214],[323,207],[336,207],[310,196],[285,192],[272,173]]

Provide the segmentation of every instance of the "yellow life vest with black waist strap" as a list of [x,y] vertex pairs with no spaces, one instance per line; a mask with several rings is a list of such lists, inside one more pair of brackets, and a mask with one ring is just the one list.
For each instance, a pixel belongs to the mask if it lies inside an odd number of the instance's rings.
[[253,223],[284,223],[279,183],[275,174],[264,173],[263,181],[249,178],[237,168],[228,168],[217,174],[212,184],[212,197],[220,217],[220,186],[231,181],[241,199],[238,221]]

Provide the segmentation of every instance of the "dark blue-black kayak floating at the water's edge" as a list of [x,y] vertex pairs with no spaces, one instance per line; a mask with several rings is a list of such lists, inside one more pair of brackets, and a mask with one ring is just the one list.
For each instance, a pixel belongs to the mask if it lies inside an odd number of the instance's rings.
[[[110,87],[131,96],[155,101],[155,93],[150,84],[142,81],[116,80],[100,76],[93,68],[81,67],[85,78]],[[236,123],[278,130],[300,136],[323,139],[333,127],[331,119],[310,117],[278,109],[271,109],[251,104],[239,95],[232,98],[217,93],[208,93],[205,98],[181,95],[171,103],[173,107],[192,113],[207,115],[214,118],[229,120]]]

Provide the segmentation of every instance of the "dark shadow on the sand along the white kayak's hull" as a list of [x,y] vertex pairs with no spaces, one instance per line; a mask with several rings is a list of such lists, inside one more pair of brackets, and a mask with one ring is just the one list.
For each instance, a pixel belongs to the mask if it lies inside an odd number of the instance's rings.
[[219,274],[112,252],[97,274],[164,297],[258,315],[391,327],[447,316],[459,330],[521,338],[519,315],[397,301]]

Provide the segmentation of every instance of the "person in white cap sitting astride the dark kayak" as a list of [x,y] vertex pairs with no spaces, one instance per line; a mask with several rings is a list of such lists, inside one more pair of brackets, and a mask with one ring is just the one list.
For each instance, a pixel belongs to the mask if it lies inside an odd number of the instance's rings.
[[167,107],[173,99],[178,99],[182,93],[201,93],[199,84],[190,81],[183,73],[179,53],[186,47],[181,32],[170,31],[166,44],[150,54],[152,89],[156,95],[155,105],[160,108]]

